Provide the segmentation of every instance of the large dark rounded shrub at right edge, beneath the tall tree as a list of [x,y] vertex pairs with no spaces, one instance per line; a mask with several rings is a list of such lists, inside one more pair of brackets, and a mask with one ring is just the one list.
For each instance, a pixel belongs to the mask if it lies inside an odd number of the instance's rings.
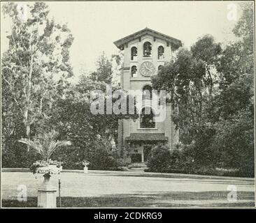
[[215,125],[212,147],[220,154],[219,167],[239,169],[241,176],[254,176],[255,145],[252,112],[243,109],[230,120]]

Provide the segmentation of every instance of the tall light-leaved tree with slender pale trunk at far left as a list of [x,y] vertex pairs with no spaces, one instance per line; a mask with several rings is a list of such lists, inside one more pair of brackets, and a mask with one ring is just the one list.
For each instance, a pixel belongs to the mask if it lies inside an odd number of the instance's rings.
[[[45,3],[25,4],[23,10],[27,13],[20,17],[17,3],[3,5],[3,14],[12,21],[9,48],[3,54],[1,66],[3,121],[9,125],[10,112],[22,116],[29,139],[31,125],[49,116],[48,110],[53,100],[61,96],[65,79],[73,75],[69,64],[73,37],[66,25],[55,24],[48,18]],[[59,81],[55,80],[57,77]]]

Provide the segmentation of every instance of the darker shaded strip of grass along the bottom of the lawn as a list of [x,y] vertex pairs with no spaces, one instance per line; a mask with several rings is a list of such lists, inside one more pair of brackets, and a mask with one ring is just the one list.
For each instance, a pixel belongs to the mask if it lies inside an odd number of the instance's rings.
[[[254,192],[239,192],[238,200],[241,202],[225,202],[226,191],[218,192],[170,192],[142,194],[112,194],[101,197],[62,197],[63,207],[253,207]],[[247,201],[245,201],[247,200]],[[27,201],[3,199],[3,207],[36,208],[37,197],[29,197]],[[59,207],[59,197],[57,197]]]

